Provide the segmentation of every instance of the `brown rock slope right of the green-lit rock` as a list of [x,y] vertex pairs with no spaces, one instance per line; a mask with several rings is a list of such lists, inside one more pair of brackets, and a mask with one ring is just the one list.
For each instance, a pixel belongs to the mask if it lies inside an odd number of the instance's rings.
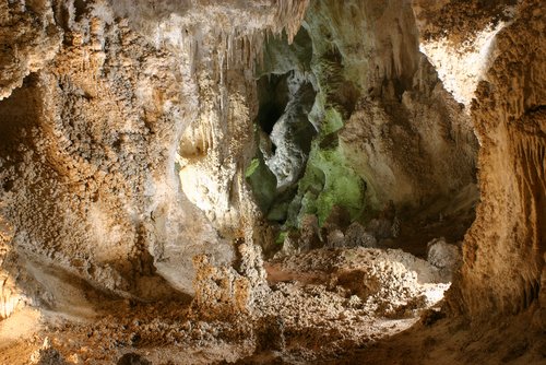
[[[366,180],[368,199],[378,208],[377,201],[390,200],[397,207],[423,204],[471,184],[475,149],[471,128],[418,52],[412,8],[395,2],[361,8],[337,3],[330,11],[334,19],[364,25],[355,33],[330,25],[330,32],[347,64],[346,83],[360,90],[355,104],[345,105],[354,110],[346,110],[349,117],[340,131],[340,145]],[[369,54],[373,56],[363,57]]]

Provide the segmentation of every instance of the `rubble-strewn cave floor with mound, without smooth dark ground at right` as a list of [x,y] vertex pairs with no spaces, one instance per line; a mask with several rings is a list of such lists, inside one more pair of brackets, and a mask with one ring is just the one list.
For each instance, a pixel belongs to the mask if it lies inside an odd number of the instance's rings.
[[112,364],[133,353],[142,364],[328,361],[439,310],[450,285],[440,268],[397,249],[321,248],[264,267],[270,290],[247,315],[203,320],[187,303],[105,297],[94,301],[102,304],[92,318],[44,311],[31,340],[12,341],[0,362],[43,364],[40,354],[51,353],[67,364]]

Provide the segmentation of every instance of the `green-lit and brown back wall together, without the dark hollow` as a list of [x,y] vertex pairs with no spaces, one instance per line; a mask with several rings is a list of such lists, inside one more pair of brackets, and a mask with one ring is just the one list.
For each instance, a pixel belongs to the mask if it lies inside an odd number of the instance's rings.
[[[475,184],[471,119],[419,52],[408,2],[313,1],[294,45],[266,43],[263,63],[260,75],[302,73],[317,93],[307,118],[318,136],[286,221],[275,220],[286,227],[307,214],[322,226],[337,205],[367,221],[390,201],[407,220],[438,215]],[[304,160],[296,150],[277,157]]]

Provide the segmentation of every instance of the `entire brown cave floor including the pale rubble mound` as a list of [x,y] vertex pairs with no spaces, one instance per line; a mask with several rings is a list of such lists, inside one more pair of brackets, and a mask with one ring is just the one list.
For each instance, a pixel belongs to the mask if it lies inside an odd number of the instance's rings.
[[521,328],[529,318],[446,318],[449,282],[402,250],[322,248],[264,268],[266,293],[236,318],[88,287],[87,310],[24,308],[0,322],[0,364],[546,363],[544,333]]

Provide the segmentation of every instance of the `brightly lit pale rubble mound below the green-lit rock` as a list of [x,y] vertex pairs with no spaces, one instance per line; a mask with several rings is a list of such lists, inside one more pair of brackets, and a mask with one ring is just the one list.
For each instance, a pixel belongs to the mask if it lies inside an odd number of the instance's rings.
[[[305,273],[300,281],[341,285],[349,301],[357,301],[353,295],[363,301],[366,313],[387,317],[404,316],[412,306],[416,309],[437,304],[450,280],[443,282],[439,268],[402,250],[320,249],[270,264],[268,271],[274,272],[270,280],[288,281]],[[325,280],[321,278],[324,274],[331,276]],[[417,304],[419,301],[423,303]]]

